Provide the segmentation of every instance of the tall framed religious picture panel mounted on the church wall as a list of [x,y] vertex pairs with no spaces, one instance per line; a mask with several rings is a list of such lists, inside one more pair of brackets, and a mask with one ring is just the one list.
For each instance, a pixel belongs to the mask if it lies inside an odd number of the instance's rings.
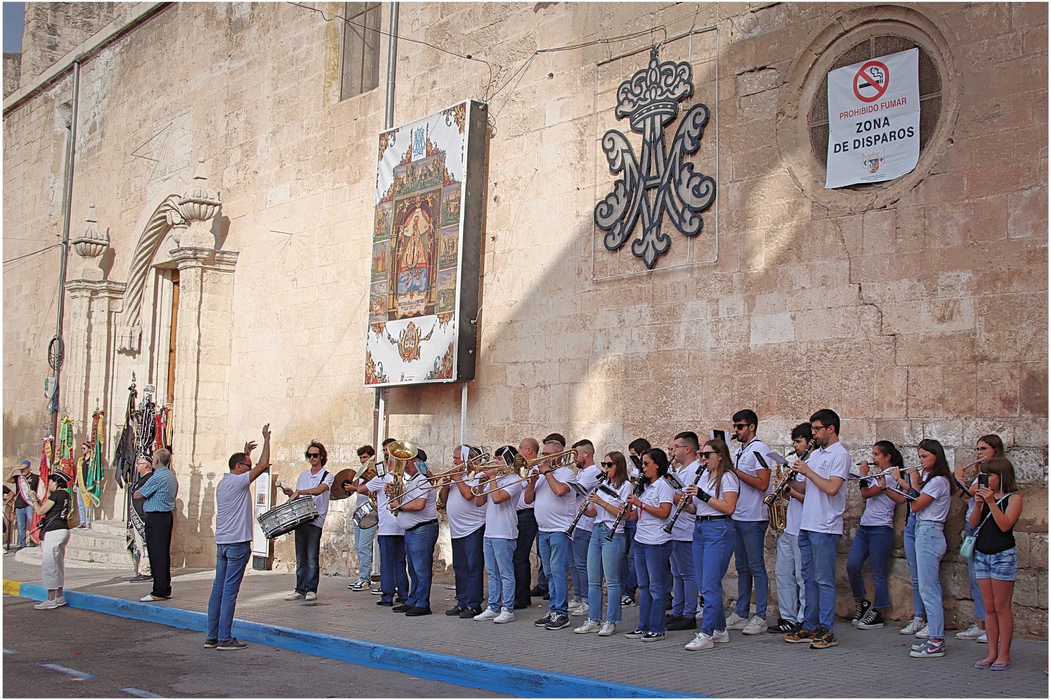
[[474,379],[486,105],[379,134],[366,386]]

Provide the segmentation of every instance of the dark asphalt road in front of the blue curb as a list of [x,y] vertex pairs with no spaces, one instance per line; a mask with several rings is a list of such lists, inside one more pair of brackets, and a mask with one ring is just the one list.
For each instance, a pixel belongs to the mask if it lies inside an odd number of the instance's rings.
[[[71,608],[34,610],[34,604],[3,596],[5,698],[511,697],[265,644],[207,650],[200,632]],[[78,679],[41,664],[95,678]]]

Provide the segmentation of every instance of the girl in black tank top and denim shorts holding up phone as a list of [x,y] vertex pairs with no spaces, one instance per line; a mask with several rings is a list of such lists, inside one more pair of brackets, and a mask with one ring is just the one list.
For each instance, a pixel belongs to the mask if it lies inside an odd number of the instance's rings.
[[982,599],[986,607],[986,635],[989,653],[975,662],[975,669],[1007,671],[1011,667],[1011,636],[1014,617],[1011,598],[1018,558],[1014,549],[1014,525],[1022,514],[1022,494],[1014,481],[1014,466],[1004,458],[982,464],[978,474],[989,485],[978,485],[977,500],[971,511],[970,526],[981,527],[974,544],[974,568]]

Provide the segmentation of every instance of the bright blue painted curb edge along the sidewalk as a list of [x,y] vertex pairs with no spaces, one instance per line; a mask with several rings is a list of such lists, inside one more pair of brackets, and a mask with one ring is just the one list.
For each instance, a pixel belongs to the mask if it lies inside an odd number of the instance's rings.
[[[42,600],[47,597],[47,591],[38,584],[22,584],[19,595]],[[70,608],[158,622],[183,630],[205,632],[208,629],[206,614],[170,608],[164,603],[138,602],[82,591],[66,591],[65,598]],[[570,676],[493,661],[435,654],[393,644],[376,644],[348,637],[336,637],[242,619],[234,619],[233,634],[245,641],[268,644],[311,656],[336,659],[373,669],[400,671],[420,678],[527,698],[705,697],[642,685],[613,683],[596,678]]]

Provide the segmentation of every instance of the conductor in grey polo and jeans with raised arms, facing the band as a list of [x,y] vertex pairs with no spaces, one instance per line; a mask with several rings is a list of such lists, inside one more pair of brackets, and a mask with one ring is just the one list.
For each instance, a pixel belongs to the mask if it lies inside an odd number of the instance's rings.
[[263,426],[263,452],[252,466],[254,442],[230,455],[229,473],[215,487],[215,581],[208,598],[205,649],[231,651],[248,644],[232,636],[233,610],[252,555],[252,482],[270,469],[270,424]]

